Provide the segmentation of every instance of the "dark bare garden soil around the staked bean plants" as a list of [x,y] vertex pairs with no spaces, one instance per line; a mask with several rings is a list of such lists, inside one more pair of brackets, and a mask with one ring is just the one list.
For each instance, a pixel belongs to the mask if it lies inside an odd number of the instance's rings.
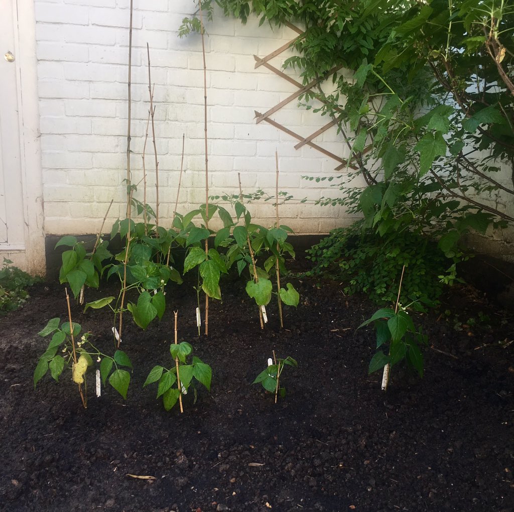
[[[0,509],[514,510],[512,319],[468,288],[453,291],[440,309],[450,314],[416,319],[433,345],[424,378],[395,367],[384,394],[380,376],[367,374],[374,333],[355,331],[375,306],[345,297],[340,283],[294,281],[301,303],[285,307],[283,331],[273,303],[261,331],[234,280],[210,303],[209,336],[199,339],[194,290],[170,288],[161,322],[142,331],[126,317],[122,349],[135,369],[127,400],[110,386],[96,398],[90,375],[87,410],[69,370],[33,390],[48,343],[36,333],[66,317],[62,287],[34,287],[25,307],[0,318]],[[172,365],[174,309],[179,340],[213,369],[211,393],[199,389],[196,404],[190,393],[183,414],[164,411],[155,385],[142,388],[155,364]],[[111,315],[72,310],[111,346]],[[272,350],[298,360],[277,405],[251,385]]]

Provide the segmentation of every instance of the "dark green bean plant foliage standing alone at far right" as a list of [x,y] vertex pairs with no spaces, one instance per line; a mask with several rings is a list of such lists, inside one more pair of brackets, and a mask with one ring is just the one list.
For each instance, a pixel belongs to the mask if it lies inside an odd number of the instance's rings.
[[371,318],[359,325],[365,327],[373,323],[377,333],[377,350],[389,346],[389,351],[384,354],[378,350],[370,361],[368,372],[381,370],[386,364],[392,368],[396,363],[406,360],[420,377],[423,377],[424,363],[420,347],[428,343],[427,337],[417,331],[414,322],[404,308],[378,309]]

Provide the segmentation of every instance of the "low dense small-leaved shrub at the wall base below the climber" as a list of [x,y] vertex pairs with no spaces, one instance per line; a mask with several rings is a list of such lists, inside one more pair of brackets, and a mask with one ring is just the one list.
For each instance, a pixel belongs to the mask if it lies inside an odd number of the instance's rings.
[[456,262],[466,258],[460,252],[447,257],[440,249],[443,242],[409,230],[378,237],[358,225],[339,228],[307,251],[314,264],[307,275],[331,276],[343,281],[345,294],[363,292],[377,303],[390,304],[397,296],[392,283],[399,282],[405,265],[401,301],[424,309],[437,303],[444,283],[456,279]]

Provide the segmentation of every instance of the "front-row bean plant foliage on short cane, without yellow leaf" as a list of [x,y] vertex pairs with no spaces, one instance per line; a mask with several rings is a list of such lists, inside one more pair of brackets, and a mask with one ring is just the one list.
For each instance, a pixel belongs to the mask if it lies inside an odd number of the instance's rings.
[[177,403],[180,394],[186,394],[190,387],[194,389],[196,397],[194,381],[200,382],[209,391],[211,389],[211,367],[196,356],[193,356],[192,362],[187,364],[187,356],[189,356],[192,351],[193,348],[187,341],[182,341],[177,344],[172,343],[170,345],[171,357],[178,361],[180,389],[178,387],[176,365],[170,370],[160,365],[154,366],[143,384],[143,387],[145,387],[154,382],[158,382],[157,398],[162,396],[162,404],[167,411]]

